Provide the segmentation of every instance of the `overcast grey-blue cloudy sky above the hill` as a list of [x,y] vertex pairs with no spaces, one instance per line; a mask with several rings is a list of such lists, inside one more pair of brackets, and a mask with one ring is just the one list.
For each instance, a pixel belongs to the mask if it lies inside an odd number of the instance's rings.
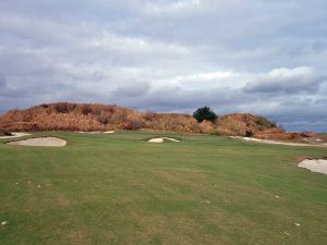
[[1,0],[0,113],[251,112],[327,132],[326,0]]

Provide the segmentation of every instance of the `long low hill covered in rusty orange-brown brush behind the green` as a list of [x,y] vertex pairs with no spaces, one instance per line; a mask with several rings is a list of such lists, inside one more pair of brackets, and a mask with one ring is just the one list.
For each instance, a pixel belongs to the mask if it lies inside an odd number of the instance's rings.
[[[111,131],[157,130],[222,135],[283,133],[263,117],[227,114],[216,122],[198,123],[190,114],[137,112],[112,105],[58,102],[24,110],[10,110],[0,115],[2,131]],[[247,133],[249,134],[249,133]]]

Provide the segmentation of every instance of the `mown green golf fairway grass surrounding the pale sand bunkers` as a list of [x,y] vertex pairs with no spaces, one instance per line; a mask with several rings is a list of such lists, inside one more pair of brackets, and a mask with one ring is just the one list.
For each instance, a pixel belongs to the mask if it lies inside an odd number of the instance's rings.
[[296,167],[326,148],[182,134],[165,135],[181,143],[149,144],[160,134],[142,132],[39,135],[69,144],[0,143],[1,245],[326,244],[327,175]]

